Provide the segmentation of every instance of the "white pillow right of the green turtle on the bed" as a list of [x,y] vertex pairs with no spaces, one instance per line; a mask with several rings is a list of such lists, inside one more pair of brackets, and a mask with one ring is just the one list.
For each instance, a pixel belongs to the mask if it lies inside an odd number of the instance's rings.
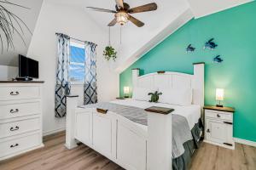
[[160,95],[159,102],[172,104],[172,105],[191,105],[192,104],[192,89],[179,89],[179,88],[170,88],[164,89],[160,88],[159,92],[162,93]]

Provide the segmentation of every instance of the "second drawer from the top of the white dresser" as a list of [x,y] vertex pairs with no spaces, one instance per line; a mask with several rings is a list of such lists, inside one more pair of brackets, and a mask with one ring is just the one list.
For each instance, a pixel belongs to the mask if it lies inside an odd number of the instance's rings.
[[40,102],[0,105],[0,119],[30,116],[40,113]]

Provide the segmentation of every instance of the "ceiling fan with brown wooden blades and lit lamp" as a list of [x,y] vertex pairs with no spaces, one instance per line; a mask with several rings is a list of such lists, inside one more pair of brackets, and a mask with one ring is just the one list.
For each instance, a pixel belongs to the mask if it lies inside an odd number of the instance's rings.
[[123,26],[125,25],[125,23],[128,22],[128,20],[130,20],[133,24],[135,24],[138,27],[144,26],[144,23],[131,16],[131,14],[143,13],[157,9],[156,3],[148,3],[139,7],[130,8],[130,5],[128,3],[124,3],[124,0],[115,0],[115,2],[115,10],[95,7],[87,8],[93,9],[98,12],[113,13],[114,19],[108,24],[108,26],[114,26],[116,23],[119,23],[121,26]]

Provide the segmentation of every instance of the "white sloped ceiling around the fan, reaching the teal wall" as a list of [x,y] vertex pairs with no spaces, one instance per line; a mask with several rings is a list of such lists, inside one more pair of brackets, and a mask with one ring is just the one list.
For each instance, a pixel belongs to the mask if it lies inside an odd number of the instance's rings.
[[[121,29],[119,25],[111,27],[111,45],[118,51],[118,59],[112,63],[112,69],[118,72],[124,71],[125,68],[142,57],[151,48],[154,48],[165,37],[194,17],[200,18],[250,1],[125,0],[125,3],[129,3],[131,8],[154,2],[158,4],[158,9],[147,13],[132,14],[145,23],[142,28],[134,26],[131,22],[122,26]],[[51,0],[51,2],[84,10],[84,13],[90,15],[92,20],[95,20],[96,24],[106,32],[106,37],[108,37],[108,23],[113,20],[113,14],[91,11],[86,7],[114,9],[114,0]]]

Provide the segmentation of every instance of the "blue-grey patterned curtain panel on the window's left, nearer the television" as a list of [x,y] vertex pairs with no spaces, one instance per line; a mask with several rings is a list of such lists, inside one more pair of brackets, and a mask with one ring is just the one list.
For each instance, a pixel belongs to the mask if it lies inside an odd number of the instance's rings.
[[69,39],[67,35],[57,34],[58,65],[55,85],[55,117],[66,116],[66,95],[70,93],[68,82]]

